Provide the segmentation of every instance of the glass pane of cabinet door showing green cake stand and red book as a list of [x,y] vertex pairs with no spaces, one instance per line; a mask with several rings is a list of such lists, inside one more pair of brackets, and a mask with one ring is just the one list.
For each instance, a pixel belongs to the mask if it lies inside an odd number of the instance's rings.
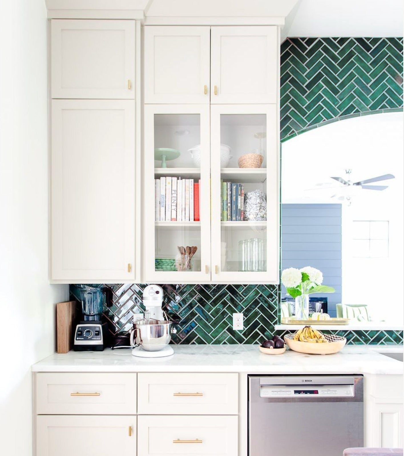
[[200,115],[155,114],[154,144],[155,270],[200,271]]

